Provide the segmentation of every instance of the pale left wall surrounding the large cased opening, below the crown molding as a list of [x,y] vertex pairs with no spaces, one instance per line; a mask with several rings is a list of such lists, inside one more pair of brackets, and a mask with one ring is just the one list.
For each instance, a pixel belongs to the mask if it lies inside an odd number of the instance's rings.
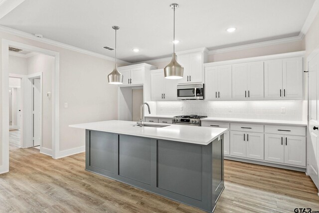
[[[69,128],[69,124],[118,118],[118,86],[108,84],[107,81],[107,75],[113,70],[113,61],[6,32],[0,32],[0,39],[21,42],[60,53],[60,151],[75,149],[85,144],[85,132]],[[0,63],[2,63],[1,54],[2,52],[0,52]],[[119,64],[121,65],[123,64]],[[2,72],[1,66],[0,72]],[[0,75],[1,81],[2,76]],[[0,101],[2,101],[2,88],[0,88]],[[64,108],[64,102],[68,102],[69,108]],[[2,105],[0,105],[1,114]],[[7,123],[0,122],[0,138],[2,137],[2,125],[7,125]],[[0,154],[1,166],[3,162],[2,141],[0,141]]]

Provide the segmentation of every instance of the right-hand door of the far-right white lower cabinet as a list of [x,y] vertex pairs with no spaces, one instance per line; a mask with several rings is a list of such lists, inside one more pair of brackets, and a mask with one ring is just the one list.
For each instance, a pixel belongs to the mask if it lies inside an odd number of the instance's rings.
[[285,136],[285,163],[306,166],[306,137]]

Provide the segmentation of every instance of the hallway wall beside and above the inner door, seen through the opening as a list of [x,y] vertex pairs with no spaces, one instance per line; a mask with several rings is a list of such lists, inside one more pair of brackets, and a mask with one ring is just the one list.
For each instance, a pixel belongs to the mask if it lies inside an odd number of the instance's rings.
[[36,54],[27,58],[27,74],[42,72],[42,147],[52,149],[52,100],[46,96],[52,92],[54,57]]

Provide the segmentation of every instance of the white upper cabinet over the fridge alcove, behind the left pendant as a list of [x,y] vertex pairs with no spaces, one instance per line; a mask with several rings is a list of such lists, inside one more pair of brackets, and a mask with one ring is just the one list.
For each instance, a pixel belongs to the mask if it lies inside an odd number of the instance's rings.
[[150,71],[153,69],[156,67],[146,63],[118,67],[119,72],[123,75],[123,84],[119,86],[144,85],[145,79],[150,82]]

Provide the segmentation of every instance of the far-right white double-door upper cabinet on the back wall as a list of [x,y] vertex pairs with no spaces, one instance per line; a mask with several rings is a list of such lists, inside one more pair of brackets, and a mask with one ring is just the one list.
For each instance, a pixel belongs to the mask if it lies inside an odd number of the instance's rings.
[[265,99],[302,99],[302,57],[265,61]]

